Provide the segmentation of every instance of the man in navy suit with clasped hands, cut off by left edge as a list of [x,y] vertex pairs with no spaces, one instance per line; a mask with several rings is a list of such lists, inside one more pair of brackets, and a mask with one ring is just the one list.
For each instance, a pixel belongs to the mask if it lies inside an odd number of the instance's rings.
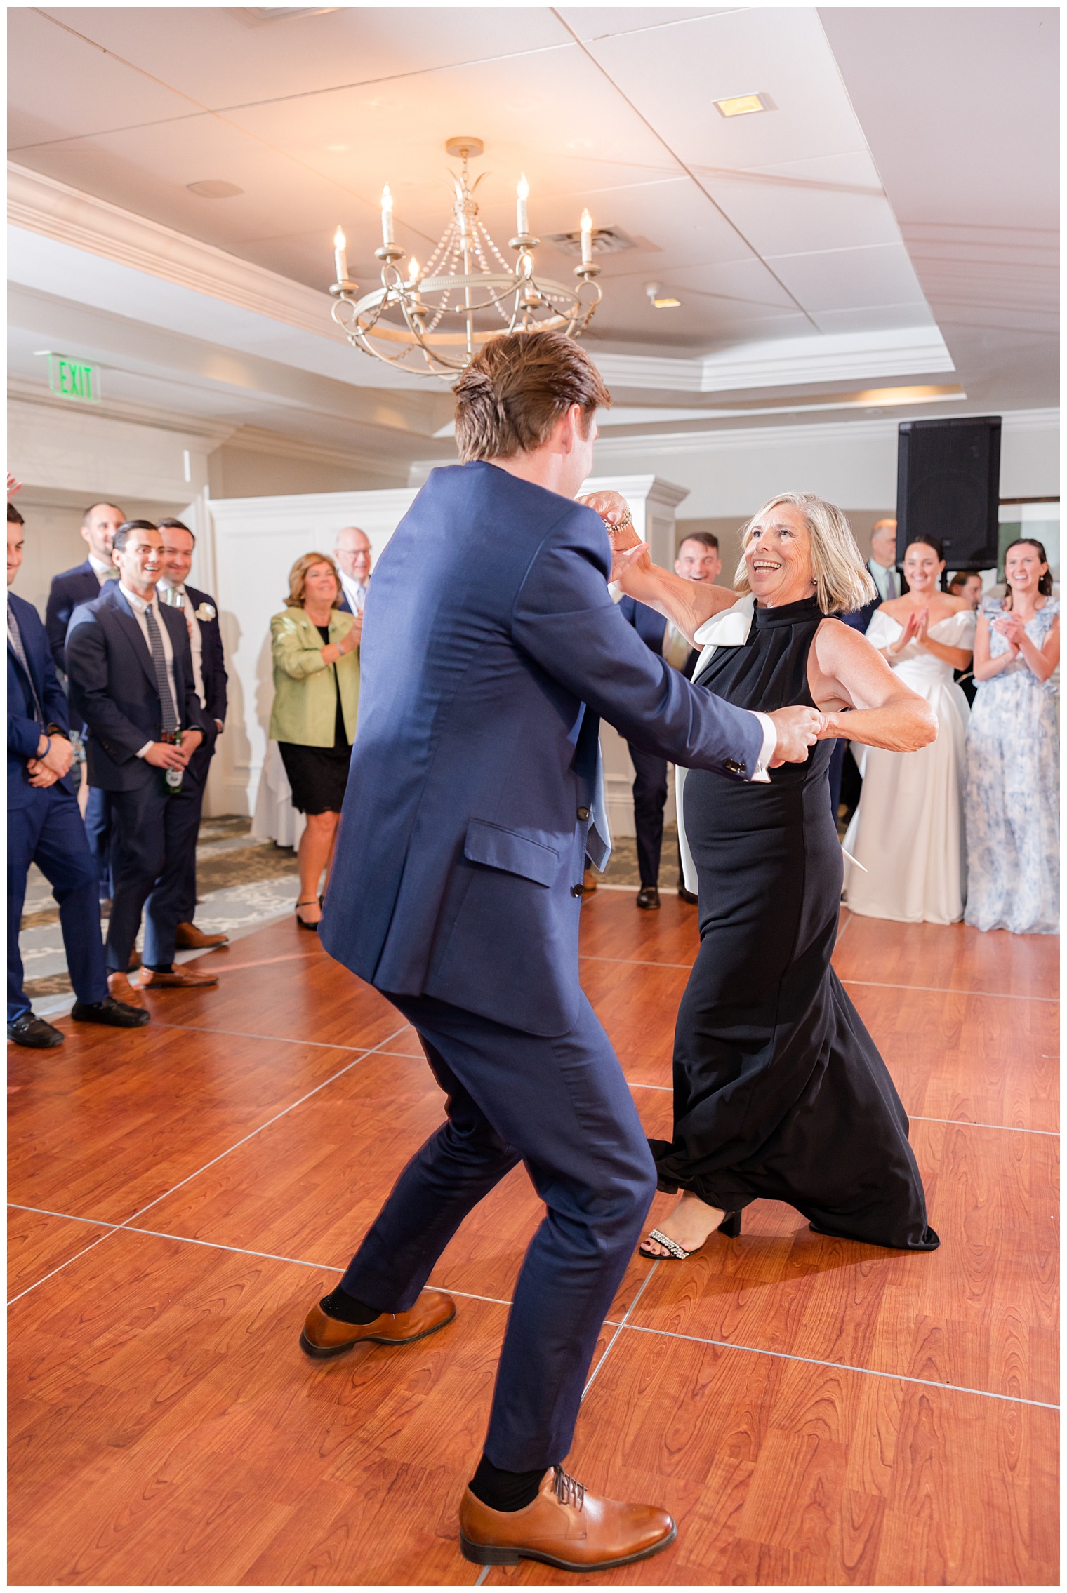
[[[22,516],[8,503],[8,586],[22,564]],[[97,873],[70,782],[73,749],[48,636],[33,604],[8,591],[8,1039],[51,1050],[62,1031],[35,1018],[22,988],[19,926],[25,879],[37,863],[59,903],[59,927],[75,992],[72,1018],[119,1029],[148,1013],[107,988]]]

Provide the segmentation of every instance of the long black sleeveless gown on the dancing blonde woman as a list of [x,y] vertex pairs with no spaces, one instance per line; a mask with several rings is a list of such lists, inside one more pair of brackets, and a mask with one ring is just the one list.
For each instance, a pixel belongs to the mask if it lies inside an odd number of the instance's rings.
[[[696,683],[769,712],[814,706],[814,599],[756,609],[744,647]],[[699,876],[701,949],[675,1031],[674,1141],[650,1141],[659,1188],[731,1211],[795,1206],[819,1231],[933,1251],[908,1117],[885,1063],[830,967],[841,844],[827,769],[833,741],[769,785],[694,769],[685,828]]]

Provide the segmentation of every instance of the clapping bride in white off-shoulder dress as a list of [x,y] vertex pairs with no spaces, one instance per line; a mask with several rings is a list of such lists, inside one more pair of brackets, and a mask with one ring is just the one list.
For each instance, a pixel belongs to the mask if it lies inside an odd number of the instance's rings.
[[[927,699],[938,738],[920,752],[863,749],[863,795],[846,851],[846,900],[863,918],[905,924],[956,924],[963,916],[963,774],[967,698],[952,680],[975,650],[975,610],[938,589],[940,546],[913,542],[905,553],[903,597],[874,612],[866,639],[893,674]],[[866,870],[863,873],[862,870]]]

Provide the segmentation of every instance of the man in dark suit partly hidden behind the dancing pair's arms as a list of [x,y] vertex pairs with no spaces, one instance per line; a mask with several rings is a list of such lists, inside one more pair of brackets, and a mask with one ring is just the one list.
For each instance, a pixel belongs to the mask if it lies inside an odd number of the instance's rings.
[[[710,530],[694,530],[678,543],[678,554],[674,561],[677,575],[690,581],[710,581],[718,578],[723,561],[718,554],[718,537]],[[693,669],[701,656],[690,645],[674,624],[634,597],[619,599],[619,613],[632,624],[645,647],[666,658],[669,664],[680,669],[686,680],[693,679]],[[662,849],[662,812],[667,801],[667,760],[651,752],[643,752],[637,746],[629,747],[634,765],[634,830],[637,832],[637,868],[640,871],[640,890],[637,906],[656,910],[659,906],[659,854]],[[678,862],[678,895],[683,902],[696,902],[691,890],[685,889],[682,865]]]

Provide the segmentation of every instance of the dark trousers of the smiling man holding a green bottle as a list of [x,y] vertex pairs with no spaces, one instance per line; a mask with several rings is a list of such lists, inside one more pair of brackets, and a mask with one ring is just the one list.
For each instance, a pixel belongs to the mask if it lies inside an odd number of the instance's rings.
[[111,801],[111,918],[107,929],[108,973],[126,972],[145,914],[147,969],[170,967],[174,933],[186,890],[190,847],[196,847],[204,793],[190,769],[169,793],[162,769],[147,766],[132,792],[108,792]]

